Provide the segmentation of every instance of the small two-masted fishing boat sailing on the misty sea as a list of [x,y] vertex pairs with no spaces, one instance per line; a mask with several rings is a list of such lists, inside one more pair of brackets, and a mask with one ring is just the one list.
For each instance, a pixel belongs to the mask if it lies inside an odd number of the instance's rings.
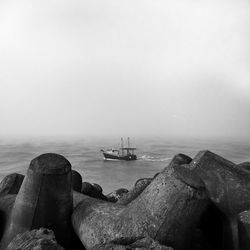
[[120,149],[101,149],[105,160],[125,160],[134,161],[137,160],[137,156],[134,153],[136,148],[130,147],[129,137],[127,139],[127,147],[123,146],[123,138],[121,138],[121,148]]

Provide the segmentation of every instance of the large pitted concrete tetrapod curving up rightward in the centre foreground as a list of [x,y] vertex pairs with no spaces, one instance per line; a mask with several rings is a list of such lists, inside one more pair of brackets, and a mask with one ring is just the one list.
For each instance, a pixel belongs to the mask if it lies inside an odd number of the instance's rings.
[[208,199],[203,190],[176,178],[173,166],[189,163],[174,157],[152,183],[128,205],[84,197],[73,211],[72,225],[83,245],[130,244],[148,236],[175,250],[188,249],[192,230]]

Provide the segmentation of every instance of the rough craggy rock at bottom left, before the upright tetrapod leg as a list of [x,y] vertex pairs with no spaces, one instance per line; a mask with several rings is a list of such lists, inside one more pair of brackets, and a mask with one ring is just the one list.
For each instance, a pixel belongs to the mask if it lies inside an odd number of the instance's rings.
[[18,234],[6,250],[63,250],[57,244],[52,230],[46,228],[34,229]]

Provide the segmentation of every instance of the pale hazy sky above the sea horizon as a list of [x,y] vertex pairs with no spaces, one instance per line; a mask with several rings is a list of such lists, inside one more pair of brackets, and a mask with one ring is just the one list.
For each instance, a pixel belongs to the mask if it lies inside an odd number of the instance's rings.
[[250,137],[249,0],[0,0],[0,136]]

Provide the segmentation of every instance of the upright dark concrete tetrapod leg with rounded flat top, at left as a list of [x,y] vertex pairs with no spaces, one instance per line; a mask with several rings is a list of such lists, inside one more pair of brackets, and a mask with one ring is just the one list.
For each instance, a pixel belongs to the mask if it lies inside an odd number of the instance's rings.
[[58,154],[33,159],[16,197],[1,241],[1,249],[19,233],[45,227],[52,229],[65,248],[70,242],[72,213],[71,165]]

